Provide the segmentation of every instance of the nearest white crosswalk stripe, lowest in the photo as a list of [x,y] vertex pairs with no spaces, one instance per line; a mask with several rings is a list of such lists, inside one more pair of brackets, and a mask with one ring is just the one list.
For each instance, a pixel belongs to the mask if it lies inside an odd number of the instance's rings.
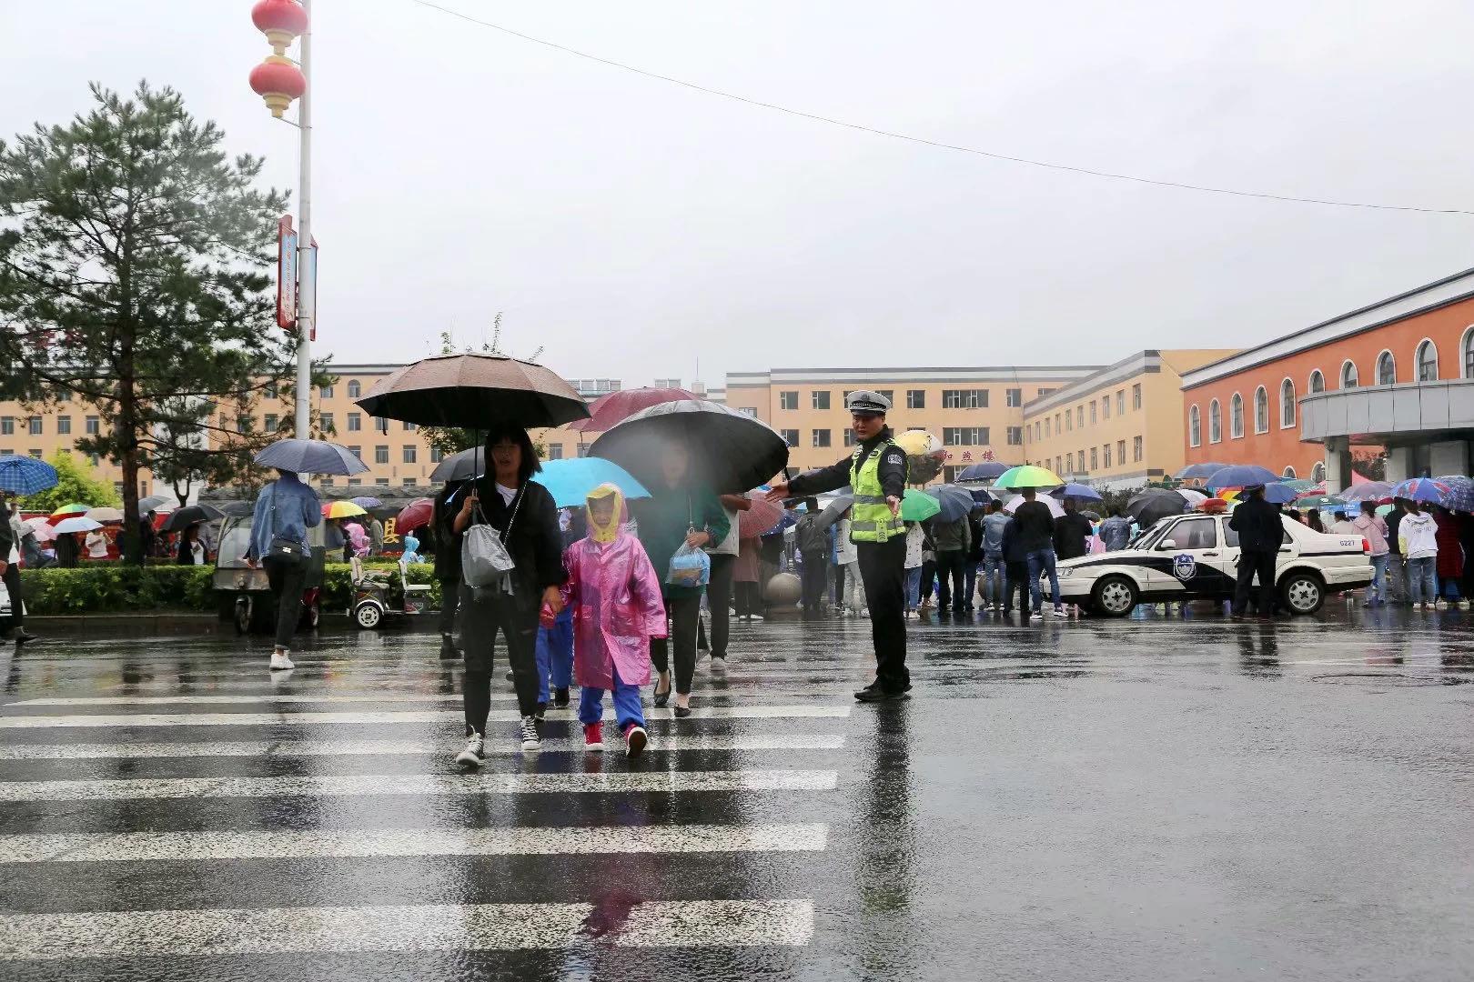
[[[425,904],[0,916],[0,958],[349,951],[514,951],[588,939],[591,904]],[[647,901],[615,947],[806,945],[808,900]]]

